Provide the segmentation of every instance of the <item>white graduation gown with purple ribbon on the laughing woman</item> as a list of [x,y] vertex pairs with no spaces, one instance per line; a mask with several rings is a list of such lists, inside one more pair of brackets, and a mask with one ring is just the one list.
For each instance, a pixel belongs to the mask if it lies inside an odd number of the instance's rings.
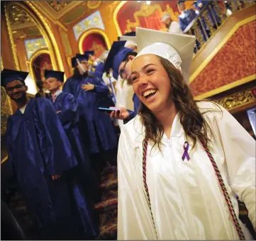
[[[218,107],[199,102],[200,110]],[[210,151],[238,216],[235,194],[255,228],[255,140],[221,107],[204,114],[213,135]],[[147,182],[159,240],[239,240],[213,166],[199,141],[190,160],[182,160],[184,130],[179,113],[162,153],[148,142]],[[118,240],[156,240],[143,187],[143,139],[140,117],[123,126],[118,146]],[[241,224],[246,239],[249,232]]]

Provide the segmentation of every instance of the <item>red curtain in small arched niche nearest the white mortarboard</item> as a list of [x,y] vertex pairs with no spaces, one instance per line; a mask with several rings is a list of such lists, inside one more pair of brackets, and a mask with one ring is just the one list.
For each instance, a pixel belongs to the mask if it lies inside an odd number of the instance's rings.
[[91,33],[84,38],[82,43],[84,51],[94,51],[94,57],[100,57],[101,54],[107,49],[104,37],[97,33]]

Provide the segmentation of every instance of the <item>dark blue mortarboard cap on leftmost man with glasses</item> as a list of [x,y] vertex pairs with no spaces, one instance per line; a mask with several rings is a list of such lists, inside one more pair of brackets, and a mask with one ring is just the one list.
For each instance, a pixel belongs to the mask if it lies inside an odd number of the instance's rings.
[[11,81],[22,81],[25,83],[25,80],[28,76],[28,72],[16,71],[12,69],[3,69],[1,72],[1,86],[6,87]]

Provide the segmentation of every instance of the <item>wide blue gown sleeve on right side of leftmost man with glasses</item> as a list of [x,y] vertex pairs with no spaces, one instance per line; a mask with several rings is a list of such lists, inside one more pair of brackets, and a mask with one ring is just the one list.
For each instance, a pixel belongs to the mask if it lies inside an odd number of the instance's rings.
[[50,100],[37,99],[35,126],[46,175],[60,175],[77,165],[70,143]]

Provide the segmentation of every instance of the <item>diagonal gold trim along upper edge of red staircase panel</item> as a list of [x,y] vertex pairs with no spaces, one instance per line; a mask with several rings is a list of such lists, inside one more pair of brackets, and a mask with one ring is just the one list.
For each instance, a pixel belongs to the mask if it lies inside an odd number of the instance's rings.
[[203,69],[206,67],[206,65],[211,61],[211,59],[213,59],[213,57],[216,56],[216,54],[226,44],[226,42],[228,42],[230,37],[233,36],[233,34],[238,30],[238,28],[240,28],[241,26],[243,26],[247,23],[250,23],[252,20],[256,20],[256,15],[250,16],[250,18],[245,18],[244,20],[241,20],[240,22],[235,24],[235,26],[228,32],[226,37],[224,37],[223,40],[221,40],[221,42],[216,46],[216,48],[213,50],[213,52],[211,52],[211,54],[209,54],[208,57],[203,61],[203,63],[200,64],[200,66],[196,69],[196,71],[194,71],[194,73],[191,74],[190,79],[189,79],[189,84],[194,81],[196,76],[198,76],[201,73],[201,71],[203,71]]

